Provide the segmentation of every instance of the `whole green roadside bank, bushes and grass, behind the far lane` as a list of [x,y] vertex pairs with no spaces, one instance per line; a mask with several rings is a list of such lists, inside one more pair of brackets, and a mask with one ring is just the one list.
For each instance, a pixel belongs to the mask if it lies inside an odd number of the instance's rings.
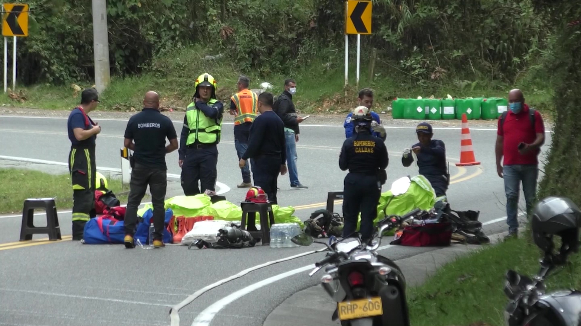
[[[19,41],[22,88],[0,102],[69,109],[78,103],[71,86],[93,84],[90,2],[29,3],[30,37]],[[207,71],[222,100],[246,74],[253,88],[267,81],[273,92],[296,79],[303,112],[352,108],[356,37],[344,90],[343,11],[324,0],[107,1],[113,80],[101,107],[138,109],[150,89],[162,94],[163,106],[185,107],[193,81]],[[546,79],[531,76],[552,54],[553,30],[530,0],[379,0],[372,19],[373,34],[361,37],[359,88],[376,90],[377,107],[394,97],[504,96],[514,86],[535,107],[550,106]]]

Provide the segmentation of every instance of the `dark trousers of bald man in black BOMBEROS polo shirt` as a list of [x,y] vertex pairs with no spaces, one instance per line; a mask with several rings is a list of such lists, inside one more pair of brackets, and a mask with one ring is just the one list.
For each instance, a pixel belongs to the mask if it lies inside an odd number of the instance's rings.
[[164,218],[166,211],[167,171],[164,169],[150,168],[149,166],[135,163],[135,168],[131,169],[131,182],[129,184],[129,198],[127,200],[127,211],[125,211],[125,234],[133,236],[135,234],[135,224],[137,223],[137,208],[144,198],[145,191],[149,185],[151,202],[153,204],[153,239],[162,240]]

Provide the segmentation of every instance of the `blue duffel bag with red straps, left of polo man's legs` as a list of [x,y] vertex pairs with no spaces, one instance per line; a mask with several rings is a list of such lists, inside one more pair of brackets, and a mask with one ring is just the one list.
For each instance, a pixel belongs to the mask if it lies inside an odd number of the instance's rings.
[[84,244],[122,244],[125,237],[123,221],[103,215],[85,223]]

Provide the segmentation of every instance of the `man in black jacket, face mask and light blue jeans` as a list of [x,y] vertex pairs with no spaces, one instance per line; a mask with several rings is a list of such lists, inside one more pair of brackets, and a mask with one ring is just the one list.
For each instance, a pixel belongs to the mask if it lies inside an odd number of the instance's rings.
[[304,118],[297,116],[295,104],[292,102],[292,97],[296,93],[296,83],[293,79],[285,80],[285,91],[282,92],[274,106],[274,111],[278,117],[281,118],[285,124],[285,139],[286,139],[286,166],[288,166],[290,189],[307,189],[299,182],[299,172],[297,172],[296,161],[296,142],[299,141],[299,124],[304,121]]

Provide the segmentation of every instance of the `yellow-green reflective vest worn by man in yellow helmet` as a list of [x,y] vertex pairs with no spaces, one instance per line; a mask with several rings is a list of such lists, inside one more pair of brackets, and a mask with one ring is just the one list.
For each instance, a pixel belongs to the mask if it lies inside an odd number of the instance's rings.
[[[210,99],[208,105],[218,102],[216,99]],[[208,118],[196,107],[196,103],[190,103],[185,111],[188,118],[189,135],[186,145],[191,145],[198,140],[203,144],[217,144],[220,142],[220,133],[222,129],[222,119]]]

